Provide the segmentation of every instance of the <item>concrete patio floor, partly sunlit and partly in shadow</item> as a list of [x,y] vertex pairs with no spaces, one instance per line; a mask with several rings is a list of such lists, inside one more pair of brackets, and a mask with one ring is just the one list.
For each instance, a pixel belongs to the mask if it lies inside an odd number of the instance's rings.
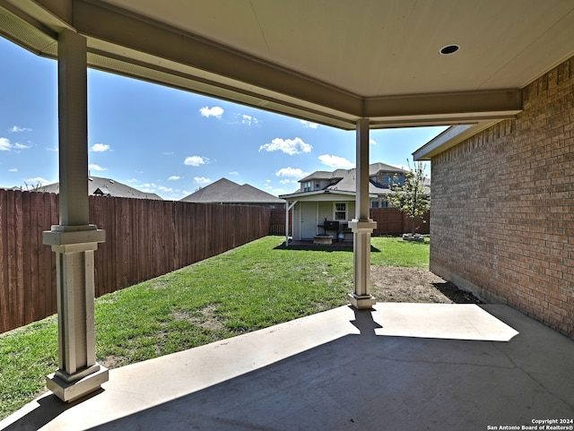
[[112,369],[91,398],[44,395],[0,429],[551,429],[535,421],[574,418],[572,358],[509,306],[342,306]]

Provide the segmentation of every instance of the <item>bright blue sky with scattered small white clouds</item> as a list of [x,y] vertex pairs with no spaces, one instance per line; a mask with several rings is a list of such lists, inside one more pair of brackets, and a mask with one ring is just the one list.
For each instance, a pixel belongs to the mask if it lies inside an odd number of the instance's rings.
[[[57,177],[57,62],[0,37],[0,187]],[[354,168],[355,134],[88,72],[90,172],[178,200],[222,177],[278,195],[316,170]],[[370,163],[404,166],[445,127],[370,133]],[[426,168],[428,175],[430,167]]]

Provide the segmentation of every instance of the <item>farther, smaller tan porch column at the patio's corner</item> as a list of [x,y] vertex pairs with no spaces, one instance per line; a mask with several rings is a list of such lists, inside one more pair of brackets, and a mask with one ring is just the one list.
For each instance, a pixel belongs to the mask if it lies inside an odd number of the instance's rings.
[[370,219],[369,208],[369,119],[357,121],[357,175],[355,218],[349,222],[353,236],[353,286],[348,296],[355,308],[370,308],[375,297],[370,295],[370,234],[377,222]]

